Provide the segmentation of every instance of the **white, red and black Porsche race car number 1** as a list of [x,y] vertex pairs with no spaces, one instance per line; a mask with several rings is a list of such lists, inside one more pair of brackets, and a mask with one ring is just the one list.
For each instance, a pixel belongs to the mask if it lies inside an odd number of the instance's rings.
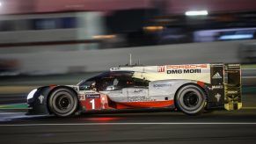
[[188,115],[204,110],[238,110],[241,102],[239,64],[123,66],[77,85],[50,85],[27,96],[28,114],[59,117],[75,113],[173,108]]

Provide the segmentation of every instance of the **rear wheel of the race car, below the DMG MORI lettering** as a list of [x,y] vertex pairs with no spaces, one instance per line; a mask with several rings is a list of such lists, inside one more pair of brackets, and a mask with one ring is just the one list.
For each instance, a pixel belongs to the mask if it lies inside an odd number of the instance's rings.
[[204,111],[206,96],[199,86],[189,84],[179,89],[175,104],[181,112],[197,115]]

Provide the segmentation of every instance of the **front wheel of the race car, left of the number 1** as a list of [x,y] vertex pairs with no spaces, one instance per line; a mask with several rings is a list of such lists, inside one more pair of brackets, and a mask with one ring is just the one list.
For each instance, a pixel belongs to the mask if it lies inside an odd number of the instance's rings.
[[57,89],[50,95],[48,106],[50,111],[56,116],[72,116],[75,112],[77,112],[77,95],[75,92],[69,89]]

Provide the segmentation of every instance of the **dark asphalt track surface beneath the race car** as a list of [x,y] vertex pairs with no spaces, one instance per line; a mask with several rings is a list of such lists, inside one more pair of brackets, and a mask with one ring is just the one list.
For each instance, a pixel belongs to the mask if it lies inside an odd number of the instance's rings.
[[0,109],[0,143],[255,143],[255,94],[245,109],[187,116],[169,109],[87,112],[60,119]]

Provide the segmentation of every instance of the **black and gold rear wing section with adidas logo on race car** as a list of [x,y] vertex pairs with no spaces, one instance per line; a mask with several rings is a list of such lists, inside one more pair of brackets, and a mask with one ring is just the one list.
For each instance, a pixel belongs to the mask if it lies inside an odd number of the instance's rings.
[[226,110],[242,108],[240,64],[211,64],[210,107],[223,106]]

